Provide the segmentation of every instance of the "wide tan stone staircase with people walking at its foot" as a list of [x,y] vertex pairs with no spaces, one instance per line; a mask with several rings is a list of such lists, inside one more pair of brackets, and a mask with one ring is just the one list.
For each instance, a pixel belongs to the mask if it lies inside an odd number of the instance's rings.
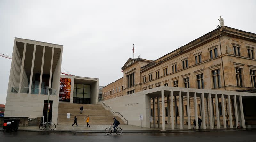
[[[83,113],[80,114],[80,107],[83,106]],[[70,119],[67,119],[67,113],[70,113]],[[77,118],[77,124],[86,124],[85,117],[89,115],[89,124],[111,124],[113,123],[113,117],[125,124],[121,118],[114,116],[109,110],[106,110],[99,104],[76,104],[76,103],[59,103],[58,110],[58,124],[70,124],[74,123],[74,117]],[[76,124],[75,124],[76,125]]]

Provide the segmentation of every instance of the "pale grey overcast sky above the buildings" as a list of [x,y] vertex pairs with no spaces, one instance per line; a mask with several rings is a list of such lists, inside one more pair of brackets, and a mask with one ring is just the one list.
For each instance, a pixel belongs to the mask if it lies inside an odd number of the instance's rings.
[[[0,53],[12,56],[14,37],[64,45],[62,72],[100,79],[123,77],[132,58],[157,58],[219,25],[256,33],[255,0],[0,0]],[[11,60],[0,57],[0,104]]]

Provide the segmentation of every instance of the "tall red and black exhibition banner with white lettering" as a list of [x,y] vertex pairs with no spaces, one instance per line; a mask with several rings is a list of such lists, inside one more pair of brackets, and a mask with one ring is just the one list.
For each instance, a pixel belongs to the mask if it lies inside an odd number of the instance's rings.
[[71,93],[71,78],[60,78],[59,101],[69,102]]

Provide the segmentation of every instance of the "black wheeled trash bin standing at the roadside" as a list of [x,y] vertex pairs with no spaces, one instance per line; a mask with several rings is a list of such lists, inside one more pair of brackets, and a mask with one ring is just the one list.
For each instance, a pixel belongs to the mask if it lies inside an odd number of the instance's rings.
[[4,118],[3,131],[17,131],[19,128],[19,123],[20,119],[18,118]]

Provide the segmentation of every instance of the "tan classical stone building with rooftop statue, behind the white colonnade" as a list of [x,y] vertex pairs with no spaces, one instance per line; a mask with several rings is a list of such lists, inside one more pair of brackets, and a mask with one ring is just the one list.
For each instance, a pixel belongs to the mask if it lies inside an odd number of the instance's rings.
[[[103,97],[104,100],[108,100],[160,86],[211,89],[223,92],[256,92],[255,48],[256,34],[221,26],[154,61],[141,58],[128,59],[122,67],[124,76],[105,86]],[[177,113],[175,115],[176,124],[180,123],[177,121],[180,111],[178,98],[176,96],[174,98],[176,106],[174,109],[177,109],[175,111]],[[186,97],[184,99],[182,110],[187,110],[184,109],[187,107],[187,99]],[[193,98],[190,99],[190,101],[194,101]],[[227,99],[228,97],[225,97],[224,102],[220,97],[212,99],[213,116],[215,116],[216,123],[218,123],[216,108],[220,114],[218,119],[226,119],[222,117],[222,103],[226,108],[224,109],[226,114],[229,113]],[[167,102],[167,97],[164,100]],[[253,103],[255,101],[255,98],[243,98],[246,124],[256,124],[254,121],[256,106]],[[156,122],[158,121],[159,124],[163,109],[161,109],[161,105],[157,107],[159,104],[156,103],[157,111],[154,111],[153,102],[157,102],[157,98],[152,99],[151,97],[151,116],[157,114]],[[161,103],[161,99],[158,102]],[[185,117],[187,120],[184,120],[183,117],[184,123],[193,123],[195,113],[202,117],[202,100],[198,98],[196,102],[198,109],[191,109],[190,122],[188,122],[188,118]],[[205,104],[208,102],[206,98],[204,98],[204,102]],[[234,105],[236,104],[231,99],[232,115],[236,110]],[[167,104],[165,107],[165,119],[167,120],[167,113],[170,113],[170,109],[167,109]],[[190,106],[190,108],[192,107]],[[182,113],[186,116],[188,112],[182,111]],[[197,120],[197,117],[195,119]]]

